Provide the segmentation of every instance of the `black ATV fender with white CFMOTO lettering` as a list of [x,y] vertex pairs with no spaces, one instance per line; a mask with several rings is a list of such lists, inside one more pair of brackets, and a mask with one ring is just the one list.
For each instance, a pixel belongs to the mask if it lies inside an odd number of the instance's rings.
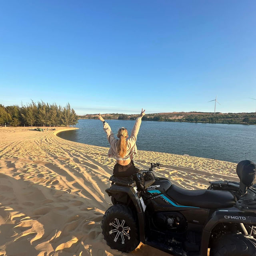
[[207,255],[208,245],[210,242],[210,235],[213,228],[218,223],[243,223],[248,225],[256,225],[256,214],[244,213],[236,208],[228,210],[219,210],[212,214],[210,220],[204,226],[201,240],[201,256]]

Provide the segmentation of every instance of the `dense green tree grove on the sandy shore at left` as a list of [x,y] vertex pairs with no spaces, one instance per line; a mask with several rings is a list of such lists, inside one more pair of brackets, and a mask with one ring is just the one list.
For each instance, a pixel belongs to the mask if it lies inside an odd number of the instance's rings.
[[68,103],[65,107],[32,100],[26,106],[3,106],[0,104],[0,124],[10,126],[72,126],[78,116]]

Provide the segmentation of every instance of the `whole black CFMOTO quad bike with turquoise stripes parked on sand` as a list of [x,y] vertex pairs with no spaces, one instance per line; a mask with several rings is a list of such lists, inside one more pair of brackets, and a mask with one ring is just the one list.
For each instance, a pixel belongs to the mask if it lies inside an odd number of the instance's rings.
[[121,252],[140,242],[172,255],[256,256],[256,166],[240,162],[239,182],[186,190],[156,177],[151,163],[131,177],[111,176],[113,206],[102,219],[107,244]]

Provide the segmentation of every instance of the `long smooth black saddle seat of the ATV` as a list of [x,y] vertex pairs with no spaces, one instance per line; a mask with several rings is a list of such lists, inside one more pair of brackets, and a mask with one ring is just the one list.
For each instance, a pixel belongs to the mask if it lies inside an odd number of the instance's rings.
[[199,208],[223,208],[236,204],[235,196],[229,191],[223,190],[187,190],[172,185],[166,194],[178,204]]

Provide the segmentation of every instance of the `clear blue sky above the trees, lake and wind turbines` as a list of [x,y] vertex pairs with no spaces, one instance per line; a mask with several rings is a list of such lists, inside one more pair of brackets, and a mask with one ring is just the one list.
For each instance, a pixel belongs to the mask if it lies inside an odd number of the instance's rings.
[[0,1],[0,104],[256,110],[254,0]]

